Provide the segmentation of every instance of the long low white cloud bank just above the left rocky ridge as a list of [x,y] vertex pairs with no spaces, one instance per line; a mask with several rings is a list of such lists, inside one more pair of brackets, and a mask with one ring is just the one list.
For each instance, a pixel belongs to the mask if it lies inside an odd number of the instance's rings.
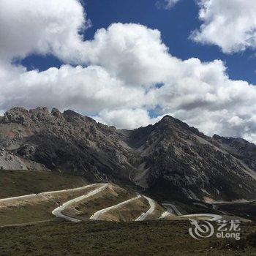
[[[4,72],[3,67],[0,70]],[[95,115],[105,108],[120,105],[134,108],[141,101],[146,102],[143,89],[124,86],[99,66],[64,65],[44,72],[11,67],[1,75],[0,84],[4,85],[0,91],[0,110],[16,105],[26,108],[43,105]]]

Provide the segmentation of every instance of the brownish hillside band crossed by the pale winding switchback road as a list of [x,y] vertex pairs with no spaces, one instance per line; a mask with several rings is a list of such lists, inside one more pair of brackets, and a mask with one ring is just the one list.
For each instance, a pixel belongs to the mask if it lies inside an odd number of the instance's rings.
[[[23,180],[31,184],[34,183],[34,173],[37,173],[37,171],[17,170],[10,171],[10,174],[8,174],[8,171],[6,171],[5,177],[13,176],[15,172],[17,176],[22,172]],[[60,187],[63,186],[60,183],[61,178],[64,184],[67,182],[65,179],[68,181],[70,179],[69,176],[50,172],[48,176],[41,176],[40,182],[46,184],[50,175],[52,175],[52,178],[57,178],[56,180],[59,179],[58,185]],[[89,220],[132,222],[163,219],[175,221],[189,218],[241,219],[244,222],[249,222],[250,219],[255,219],[255,213],[252,210],[255,206],[254,202],[252,202],[252,207],[249,207],[251,203],[246,203],[247,209],[244,212],[238,212],[236,207],[227,208],[227,205],[233,206],[234,204],[227,202],[215,203],[215,207],[214,204],[207,203],[202,206],[202,203],[199,203],[199,201],[194,203],[193,200],[188,201],[187,204],[179,201],[164,203],[160,198],[152,199],[141,192],[135,192],[132,188],[124,189],[113,183],[84,184],[86,181],[81,177],[74,178],[76,178],[74,181],[78,184],[83,183],[83,187],[1,198],[0,225],[46,222],[52,221],[56,217],[71,222]],[[12,184],[9,184],[10,187],[12,187]],[[37,191],[37,189],[32,189],[31,192]],[[10,195],[13,195],[13,193],[13,189],[10,189]],[[222,211],[223,208],[225,211]],[[236,212],[238,212],[237,215]]]

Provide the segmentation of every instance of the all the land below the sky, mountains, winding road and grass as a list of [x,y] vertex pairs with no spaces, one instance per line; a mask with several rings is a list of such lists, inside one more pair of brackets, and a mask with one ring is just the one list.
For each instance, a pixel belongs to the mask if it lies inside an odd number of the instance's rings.
[[[5,113],[0,143],[2,255],[256,252],[254,144],[170,116],[121,130],[46,108]],[[192,220],[239,221],[241,242],[190,242]]]

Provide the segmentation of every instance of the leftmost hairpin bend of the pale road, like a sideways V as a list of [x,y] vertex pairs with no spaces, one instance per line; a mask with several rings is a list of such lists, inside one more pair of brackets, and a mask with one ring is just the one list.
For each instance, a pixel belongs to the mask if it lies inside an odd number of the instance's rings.
[[[87,185],[86,188],[92,187],[94,185],[97,185],[97,184]],[[75,217],[68,217],[68,216],[62,214],[62,211],[64,211],[69,206],[71,206],[73,203],[78,203],[80,200],[83,200],[83,199],[86,199],[86,198],[91,197],[93,195],[96,195],[97,193],[99,193],[103,189],[105,189],[106,187],[108,187],[108,184],[102,184],[102,186],[98,187],[97,189],[94,189],[93,191],[89,192],[86,195],[81,195],[80,197],[76,197],[76,198],[74,198],[72,200],[67,201],[62,206],[59,206],[56,209],[54,209],[52,211],[52,214],[55,215],[56,217],[67,219],[67,220],[69,220],[71,222],[80,222],[80,219],[76,219]]]

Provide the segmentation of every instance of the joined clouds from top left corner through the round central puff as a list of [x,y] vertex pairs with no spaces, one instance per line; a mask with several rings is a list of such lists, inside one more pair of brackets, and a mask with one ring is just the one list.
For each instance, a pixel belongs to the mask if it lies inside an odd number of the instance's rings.
[[157,83],[169,72],[157,29],[114,23],[84,42],[84,13],[76,0],[1,0],[1,59],[53,53],[66,63],[100,65],[133,85]]

